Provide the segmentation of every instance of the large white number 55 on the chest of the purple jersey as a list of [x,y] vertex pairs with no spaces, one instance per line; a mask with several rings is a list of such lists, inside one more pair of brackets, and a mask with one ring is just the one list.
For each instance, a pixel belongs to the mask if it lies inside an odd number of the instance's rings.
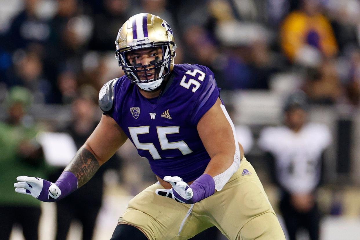
[[[132,141],[135,144],[137,149],[148,150],[153,157],[153,159],[161,159],[160,154],[156,150],[154,144],[152,143],[140,143],[138,139],[138,134],[149,133],[150,126],[141,126],[141,127],[129,127],[129,132],[132,138]],[[192,153],[186,142],[177,141],[169,142],[166,138],[166,134],[179,133],[180,127],[156,127],[158,139],[162,150],[166,149],[179,149],[183,155]]]

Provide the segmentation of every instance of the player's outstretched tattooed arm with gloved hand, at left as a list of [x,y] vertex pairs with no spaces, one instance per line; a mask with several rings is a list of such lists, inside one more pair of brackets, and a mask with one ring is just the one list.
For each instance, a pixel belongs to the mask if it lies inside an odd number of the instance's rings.
[[126,139],[127,136],[114,119],[103,115],[94,132],[55,183],[21,176],[17,177],[19,182],[14,184],[15,191],[46,202],[62,199],[89,181]]

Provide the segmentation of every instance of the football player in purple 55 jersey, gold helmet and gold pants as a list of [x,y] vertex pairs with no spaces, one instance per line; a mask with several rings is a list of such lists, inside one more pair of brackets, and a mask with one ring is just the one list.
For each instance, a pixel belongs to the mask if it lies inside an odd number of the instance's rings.
[[189,239],[216,226],[229,239],[285,239],[204,66],[174,64],[174,34],[149,13],[120,28],[125,75],[99,93],[99,125],[55,183],[18,177],[15,191],[55,201],[84,185],[129,138],[158,182],[136,195],[112,239]]

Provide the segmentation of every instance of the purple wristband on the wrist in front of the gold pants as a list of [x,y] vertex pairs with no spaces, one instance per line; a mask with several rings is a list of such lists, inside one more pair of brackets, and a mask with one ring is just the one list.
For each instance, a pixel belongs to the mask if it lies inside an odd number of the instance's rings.
[[190,199],[193,203],[197,203],[215,193],[215,181],[208,174],[198,177],[192,184],[193,197]]

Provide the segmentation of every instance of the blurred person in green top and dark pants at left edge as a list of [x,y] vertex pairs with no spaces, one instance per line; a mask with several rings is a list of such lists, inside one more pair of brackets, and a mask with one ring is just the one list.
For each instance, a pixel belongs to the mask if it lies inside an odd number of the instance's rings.
[[25,173],[46,177],[42,149],[35,138],[39,127],[26,115],[31,93],[13,87],[6,104],[9,115],[0,122],[0,239],[8,240],[12,227],[18,224],[26,240],[37,240],[40,202],[32,196],[19,198],[13,187],[17,176]]

